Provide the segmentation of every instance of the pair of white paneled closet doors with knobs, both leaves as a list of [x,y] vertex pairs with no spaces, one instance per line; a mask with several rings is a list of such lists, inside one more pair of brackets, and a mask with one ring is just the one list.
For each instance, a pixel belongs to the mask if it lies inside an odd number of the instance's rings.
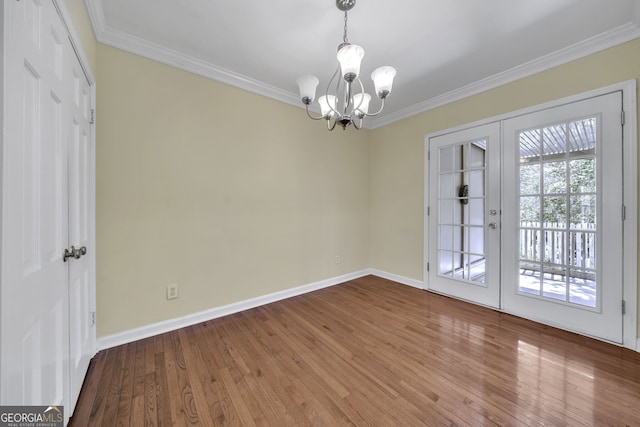
[[95,162],[92,88],[56,7],[2,4],[0,404],[66,422],[95,354]]

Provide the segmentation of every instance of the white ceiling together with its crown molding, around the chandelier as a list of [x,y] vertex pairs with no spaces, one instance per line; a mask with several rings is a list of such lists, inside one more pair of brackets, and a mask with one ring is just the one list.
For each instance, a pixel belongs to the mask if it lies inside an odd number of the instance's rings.
[[[334,0],[86,3],[102,43],[299,106],[297,76],[324,90],[342,42]],[[640,0],[358,0],[349,12],[365,89],[374,68],[398,71],[372,127],[637,37]]]

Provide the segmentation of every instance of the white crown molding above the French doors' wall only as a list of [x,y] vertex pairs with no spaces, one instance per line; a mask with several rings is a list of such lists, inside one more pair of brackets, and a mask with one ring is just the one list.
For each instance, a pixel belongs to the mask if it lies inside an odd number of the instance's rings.
[[611,31],[604,32],[597,36],[585,39],[579,43],[557,50],[533,61],[513,67],[477,82],[446,92],[442,95],[427,99],[426,101],[398,110],[394,113],[386,114],[371,121],[371,129],[376,129],[393,122],[450,104],[454,101],[477,95],[490,89],[520,80],[525,77],[549,70],[551,68],[566,64],[585,56],[600,52],[602,50],[617,46],[622,43],[640,37],[640,1],[636,1],[634,7],[633,23],[622,25]]

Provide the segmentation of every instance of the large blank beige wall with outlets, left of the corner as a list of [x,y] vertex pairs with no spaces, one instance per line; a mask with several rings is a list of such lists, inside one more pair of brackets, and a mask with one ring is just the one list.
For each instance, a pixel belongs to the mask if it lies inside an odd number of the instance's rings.
[[97,75],[98,336],[369,267],[368,131],[103,45]]

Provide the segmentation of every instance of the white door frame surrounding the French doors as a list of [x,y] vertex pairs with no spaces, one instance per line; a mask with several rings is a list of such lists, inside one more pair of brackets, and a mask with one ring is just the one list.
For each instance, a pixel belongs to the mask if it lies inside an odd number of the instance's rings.
[[623,297],[626,304],[626,313],[623,319],[623,346],[632,350],[640,351],[640,338],[638,338],[638,107],[636,100],[636,80],[628,80],[618,84],[594,89],[588,92],[569,96],[566,98],[550,101],[544,104],[535,105],[510,113],[502,114],[495,117],[486,118],[473,123],[467,123],[451,129],[434,132],[425,136],[424,147],[424,266],[423,266],[423,283],[424,288],[429,290],[429,277],[427,272],[427,262],[429,260],[429,240],[435,238],[429,236],[429,216],[427,215],[429,206],[429,159],[428,148],[429,139],[437,136],[445,135],[451,132],[470,129],[482,126],[487,123],[511,119],[520,115],[533,113],[536,111],[557,107],[559,105],[570,104],[583,99],[605,95],[615,91],[622,91],[623,109],[625,111],[625,125],[622,130],[623,138],[623,200],[625,204],[626,220],[624,223],[624,241],[623,241]]

